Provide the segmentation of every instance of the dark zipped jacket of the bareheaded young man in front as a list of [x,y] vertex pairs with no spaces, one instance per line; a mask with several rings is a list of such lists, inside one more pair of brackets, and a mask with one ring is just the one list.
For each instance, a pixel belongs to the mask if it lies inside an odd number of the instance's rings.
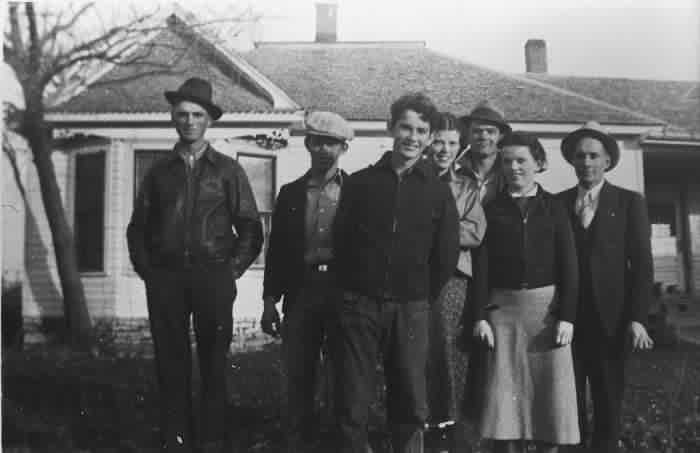
[[344,290],[399,302],[436,297],[457,266],[454,197],[430,162],[399,178],[387,152],[345,181],[333,243]]

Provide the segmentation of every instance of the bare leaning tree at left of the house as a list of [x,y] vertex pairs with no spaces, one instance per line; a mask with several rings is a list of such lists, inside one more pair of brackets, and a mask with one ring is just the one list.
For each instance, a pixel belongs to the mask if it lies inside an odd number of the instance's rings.
[[[63,292],[67,340],[74,347],[89,348],[93,341],[92,324],[74,238],[51,160],[52,136],[45,112],[47,106],[84,88],[90,83],[90,75],[105,64],[137,67],[130,78],[171,73],[174,62],[156,61],[153,54],[162,43],[151,39],[166,25],[157,7],[150,12],[132,10],[116,25],[107,25],[94,3],[62,7],[58,12],[38,12],[32,2],[10,2],[8,7],[5,61],[14,69],[25,100],[17,132],[27,139],[38,174]],[[90,18],[92,30],[84,28],[86,18]],[[234,18],[189,26],[250,20],[257,18],[246,10]],[[179,55],[186,50],[179,49]]]

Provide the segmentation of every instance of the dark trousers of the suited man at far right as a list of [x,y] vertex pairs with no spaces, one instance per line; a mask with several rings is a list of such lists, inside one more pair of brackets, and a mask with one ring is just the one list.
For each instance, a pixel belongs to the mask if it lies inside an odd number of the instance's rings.
[[618,452],[622,426],[627,354],[621,338],[607,338],[595,313],[578,318],[573,341],[574,372],[579,409],[581,438],[590,432],[588,426],[586,383],[593,402],[593,451]]

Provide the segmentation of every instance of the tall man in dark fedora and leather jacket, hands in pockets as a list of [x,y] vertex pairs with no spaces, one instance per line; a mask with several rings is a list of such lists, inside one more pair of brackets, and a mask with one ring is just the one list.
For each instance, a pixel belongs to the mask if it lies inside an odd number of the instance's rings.
[[[243,168],[204,138],[222,113],[209,82],[191,78],[165,98],[179,140],[141,184],[127,228],[129,255],[146,283],[161,451],[219,452],[228,428],[235,279],[260,253],[262,224]],[[190,316],[201,375],[198,430],[192,426]]]

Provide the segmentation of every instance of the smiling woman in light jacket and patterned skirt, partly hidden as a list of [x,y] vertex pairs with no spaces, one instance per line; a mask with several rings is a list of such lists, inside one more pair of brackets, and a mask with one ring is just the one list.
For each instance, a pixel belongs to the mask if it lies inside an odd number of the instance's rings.
[[[465,385],[467,356],[457,348],[460,320],[471,282],[470,250],[481,243],[486,217],[479,202],[479,190],[469,178],[458,176],[454,162],[460,148],[460,131],[455,116],[443,113],[431,146],[427,149],[436,172],[449,184],[459,213],[460,255],[453,276],[432,302],[430,355],[428,357],[428,424],[447,429],[453,447],[463,451],[466,426],[456,424]],[[459,431],[459,432],[457,432]]]

